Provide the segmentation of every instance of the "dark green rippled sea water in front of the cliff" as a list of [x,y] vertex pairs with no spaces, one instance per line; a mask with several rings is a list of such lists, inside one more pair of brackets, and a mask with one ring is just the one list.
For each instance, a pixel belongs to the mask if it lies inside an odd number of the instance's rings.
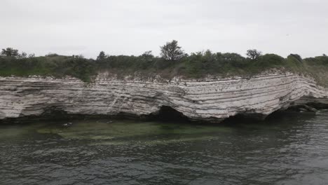
[[327,184],[327,120],[1,125],[0,184]]

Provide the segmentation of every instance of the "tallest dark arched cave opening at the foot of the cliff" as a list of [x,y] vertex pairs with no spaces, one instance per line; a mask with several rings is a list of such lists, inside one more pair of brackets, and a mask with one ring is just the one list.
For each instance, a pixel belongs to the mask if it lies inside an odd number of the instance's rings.
[[158,121],[165,121],[165,122],[166,121],[189,122],[189,118],[184,116],[184,114],[168,106],[160,107],[158,114],[154,115],[153,118],[155,118]]

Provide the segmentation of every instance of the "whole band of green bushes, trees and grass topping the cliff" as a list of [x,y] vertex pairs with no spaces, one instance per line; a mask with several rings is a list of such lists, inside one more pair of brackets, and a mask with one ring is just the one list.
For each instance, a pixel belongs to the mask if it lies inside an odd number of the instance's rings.
[[118,76],[159,74],[163,78],[201,78],[207,75],[252,76],[270,69],[280,69],[313,76],[322,85],[327,85],[327,55],[302,59],[299,55],[291,54],[284,58],[275,54],[263,55],[257,50],[247,50],[247,57],[238,53],[212,53],[210,50],[188,55],[177,41],[166,43],[160,47],[160,51],[160,57],[152,55],[151,51],[139,56],[106,55],[102,51],[93,60],[82,55],[49,54],[35,57],[6,48],[0,56],[0,76],[74,76],[83,81],[92,81],[102,71]]

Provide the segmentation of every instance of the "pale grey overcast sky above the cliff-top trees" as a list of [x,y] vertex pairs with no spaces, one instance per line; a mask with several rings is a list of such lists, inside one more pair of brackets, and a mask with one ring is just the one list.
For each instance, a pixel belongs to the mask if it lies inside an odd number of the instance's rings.
[[326,0],[1,0],[0,48],[141,55],[173,39],[186,53],[328,54]]

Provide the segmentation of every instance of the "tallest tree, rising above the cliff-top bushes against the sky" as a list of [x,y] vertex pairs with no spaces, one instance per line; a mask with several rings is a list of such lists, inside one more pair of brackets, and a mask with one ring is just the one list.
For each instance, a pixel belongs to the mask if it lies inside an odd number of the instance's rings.
[[160,55],[165,60],[177,61],[184,56],[184,50],[173,40],[160,47]]

